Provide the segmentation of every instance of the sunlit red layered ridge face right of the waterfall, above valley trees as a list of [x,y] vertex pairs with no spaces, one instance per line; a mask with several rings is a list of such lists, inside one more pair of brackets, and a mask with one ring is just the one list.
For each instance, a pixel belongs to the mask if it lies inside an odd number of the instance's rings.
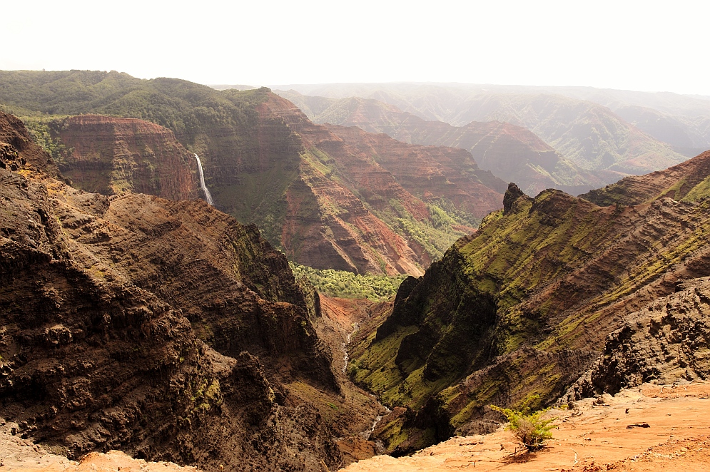
[[[258,110],[278,116],[303,144],[300,178],[287,192],[293,206],[282,235],[296,260],[326,267],[323,255],[338,254],[342,261],[333,264],[331,257],[330,267],[418,275],[444,249],[440,240],[446,244],[451,235],[471,232],[477,217],[500,205],[501,194],[490,187],[502,188],[502,181],[477,169],[465,152],[397,143],[355,128],[313,125],[293,103],[273,94]],[[448,168],[451,162],[458,168]],[[395,170],[405,163],[411,170]],[[427,180],[412,185],[407,181],[411,171]],[[469,174],[475,172],[482,179],[467,187]],[[445,214],[444,221],[437,220],[437,213]],[[333,237],[326,234],[318,241],[322,236],[314,215]],[[293,235],[299,231],[308,240],[296,245]],[[437,237],[424,236],[426,232]]]

